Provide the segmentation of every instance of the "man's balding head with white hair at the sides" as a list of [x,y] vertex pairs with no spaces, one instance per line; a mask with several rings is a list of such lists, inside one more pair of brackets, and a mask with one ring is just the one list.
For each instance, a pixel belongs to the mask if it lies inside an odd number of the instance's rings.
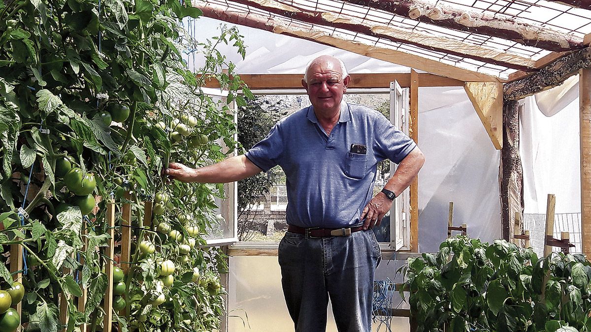
[[349,76],[341,79],[340,64],[334,59],[326,59],[312,64],[307,73],[308,82],[302,80],[314,110],[331,112],[340,109],[343,93],[347,91]]

